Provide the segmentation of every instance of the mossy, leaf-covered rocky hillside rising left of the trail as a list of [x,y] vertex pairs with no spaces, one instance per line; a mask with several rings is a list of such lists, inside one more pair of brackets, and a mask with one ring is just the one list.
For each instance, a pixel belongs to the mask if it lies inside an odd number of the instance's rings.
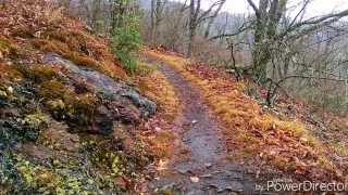
[[152,162],[136,125],[157,105],[63,9],[0,4],[0,194],[141,188]]

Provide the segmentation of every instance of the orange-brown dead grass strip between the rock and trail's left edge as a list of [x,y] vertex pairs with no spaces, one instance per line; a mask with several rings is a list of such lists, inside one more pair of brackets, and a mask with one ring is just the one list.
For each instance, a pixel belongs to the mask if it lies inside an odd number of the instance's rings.
[[[157,127],[161,127],[152,136],[146,136],[144,140],[151,147],[151,153],[157,161],[160,159],[173,158],[173,142],[176,136],[169,130],[162,130],[178,115],[179,102],[173,86],[165,76],[152,64],[141,64],[137,73],[136,82],[138,89],[146,96],[151,99],[159,106],[159,117],[161,118]],[[164,120],[163,120],[164,119]]]

